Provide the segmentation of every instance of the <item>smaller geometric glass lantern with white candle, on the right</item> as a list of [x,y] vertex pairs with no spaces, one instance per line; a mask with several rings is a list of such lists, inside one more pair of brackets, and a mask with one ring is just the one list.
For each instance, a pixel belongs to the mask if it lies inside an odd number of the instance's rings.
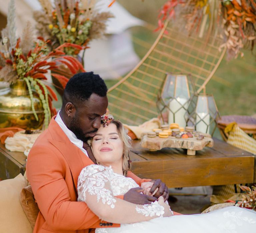
[[213,135],[220,118],[213,95],[194,95],[185,118],[187,125],[195,126],[196,131]]

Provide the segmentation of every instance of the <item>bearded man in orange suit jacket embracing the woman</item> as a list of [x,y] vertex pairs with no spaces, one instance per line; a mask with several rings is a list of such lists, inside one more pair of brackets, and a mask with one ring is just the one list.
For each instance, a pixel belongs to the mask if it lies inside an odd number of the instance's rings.
[[[27,177],[40,209],[34,233],[87,233],[89,228],[100,227],[99,218],[86,203],[77,202],[77,179],[83,167],[96,163],[86,141],[97,132],[107,106],[107,87],[99,75],[80,73],[67,83],[60,112],[38,137],[27,160]],[[132,172],[127,176],[139,185],[149,181]],[[154,197],[133,188],[118,198],[135,204],[149,204],[160,195],[166,200],[166,185],[160,180],[152,182],[150,192],[158,188]]]

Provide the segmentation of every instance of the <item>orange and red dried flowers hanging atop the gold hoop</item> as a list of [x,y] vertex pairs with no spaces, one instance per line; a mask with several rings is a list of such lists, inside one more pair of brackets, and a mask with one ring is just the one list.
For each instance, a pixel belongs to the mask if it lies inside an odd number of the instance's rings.
[[199,37],[205,30],[218,29],[225,42],[220,46],[227,48],[227,59],[237,58],[241,49],[256,42],[256,3],[255,0],[169,0],[160,10],[158,28],[163,28],[167,18],[176,14],[185,20],[185,28]]

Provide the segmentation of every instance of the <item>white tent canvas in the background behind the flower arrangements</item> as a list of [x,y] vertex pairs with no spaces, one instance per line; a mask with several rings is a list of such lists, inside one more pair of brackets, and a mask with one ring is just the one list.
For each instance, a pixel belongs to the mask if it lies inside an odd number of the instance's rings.
[[[105,39],[93,40],[85,52],[85,69],[94,71],[104,79],[118,78],[131,70],[139,61],[133,50],[129,28],[144,22],[126,11],[118,2],[108,8],[111,0],[99,0],[100,11],[110,11],[115,18],[108,22]],[[8,1],[1,1],[0,12],[7,15]],[[17,36],[21,35],[27,21],[34,22],[33,10],[39,10],[36,0],[15,0]]]

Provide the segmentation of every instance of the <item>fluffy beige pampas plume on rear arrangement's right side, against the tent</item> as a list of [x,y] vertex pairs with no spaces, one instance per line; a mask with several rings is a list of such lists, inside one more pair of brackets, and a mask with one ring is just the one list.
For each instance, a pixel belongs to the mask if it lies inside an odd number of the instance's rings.
[[89,33],[89,39],[99,39],[104,37],[106,32],[106,21],[113,18],[114,15],[110,12],[97,13],[92,19],[92,27]]

